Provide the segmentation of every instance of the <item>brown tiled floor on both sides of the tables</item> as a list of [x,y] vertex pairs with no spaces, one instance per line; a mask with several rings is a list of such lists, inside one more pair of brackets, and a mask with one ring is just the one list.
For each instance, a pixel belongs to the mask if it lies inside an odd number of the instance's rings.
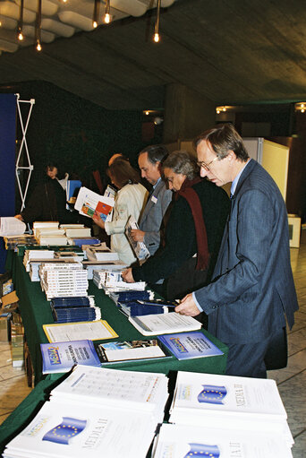
[[[293,458],[306,457],[306,229],[301,247],[291,249],[293,276],[300,310],[288,335],[289,361],[285,369],[269,371],[288,413],[295,444]],[[24,371],[12,367],[9,344],[0,342],[0,424],[30,393]]]

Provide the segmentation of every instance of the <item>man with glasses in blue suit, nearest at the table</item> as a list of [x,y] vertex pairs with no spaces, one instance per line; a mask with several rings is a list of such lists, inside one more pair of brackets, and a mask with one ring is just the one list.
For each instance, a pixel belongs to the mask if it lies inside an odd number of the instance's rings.
[[175,311],[208,315],[208,331],[229,347],[226,374],[267,376],[265,357],[291,328],[298,309],[290,265],[285,202],[276,183],[251,160],[232,125],[195,141],[201,177],[232,182],[232,209],[213,281],[183,298]]

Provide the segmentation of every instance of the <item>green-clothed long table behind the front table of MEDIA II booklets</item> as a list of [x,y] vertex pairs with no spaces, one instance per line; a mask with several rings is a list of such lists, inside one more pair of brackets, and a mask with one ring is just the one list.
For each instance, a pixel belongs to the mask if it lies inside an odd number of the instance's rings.
[[[47,343],[47,336],[42,328],[43,324],[54,323],[51,313],[51,307],[46,299],[45,293],[41,290],[38,281],[30,281],[29,273],[25,271],[22,264],[21,256],[12,255],[10,253],[8,262],[11,263],[10,269],[13,272],[13,282],[19,297],[19,308],[21,311],[22,322],[24,324],[26,339],[28,342],[30,357],[32,360],[35,384],[42,378],[46,378],[41,373],[42,359],[40,352],[40,343]],[[102,289],[98,289],[92,281],[89,281],[89,295],[94,295],[96,305],[101,309],[102,319],[106,320],[112,326],[119,337],[113,339],[115,341],[131,341],[143,339],[140,334],[128,321],[114,302],[106,296]],[[116,364],[116,367],[126,367],[129,370],[141,370],[148,372],[163,372],[166,375],[169,371],[186,370],[196,372],[208,372],[210,374],[224,374],[227,356],[227,347],[215,337],[203,330],[208,338],[217,345],[225,354],[217,357],[209,357],[202,359],[189,359],[179,361],[172,357],[161,360],[148,360],[148,362],[136,362]],[[58,375],[47,376],[48,378],[56,379]]]

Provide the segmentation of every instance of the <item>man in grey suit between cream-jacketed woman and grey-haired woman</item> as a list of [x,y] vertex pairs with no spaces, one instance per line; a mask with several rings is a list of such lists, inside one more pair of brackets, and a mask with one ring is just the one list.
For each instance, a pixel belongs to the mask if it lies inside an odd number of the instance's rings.
[[131,235],[135,241],[145,243],[150,255],[154,255],[160,245],[161,223],[172,199],[172,192],[161,177],[161,162],[167,155],[165,146],[152,145],[140,151],[138,157],[141,177],[153,188],[140,216],[140,229],[132,229]]

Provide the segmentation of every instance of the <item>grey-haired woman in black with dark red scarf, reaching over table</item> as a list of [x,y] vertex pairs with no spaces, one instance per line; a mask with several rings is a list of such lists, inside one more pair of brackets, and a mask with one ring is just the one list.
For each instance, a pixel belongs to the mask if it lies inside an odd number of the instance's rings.
[[211,279],[230,201],[223,189],[199,177],[199,168],[186,151],[171,153],[163,171],[175,193],[165,245],[146,263],[124,271],[123,279],[154,284],[164,278],[162,296],[183,298]]

